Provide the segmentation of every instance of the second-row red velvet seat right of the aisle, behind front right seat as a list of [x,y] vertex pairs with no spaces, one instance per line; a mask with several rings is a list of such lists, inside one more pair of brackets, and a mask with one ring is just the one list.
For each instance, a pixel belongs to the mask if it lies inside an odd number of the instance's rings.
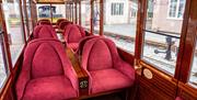
[[80,40],[85,36],[85,32],[79,25],[69,24],[66,27],[63,35],[68,47],[71,47],[73,51],[76,51],[79,46]]

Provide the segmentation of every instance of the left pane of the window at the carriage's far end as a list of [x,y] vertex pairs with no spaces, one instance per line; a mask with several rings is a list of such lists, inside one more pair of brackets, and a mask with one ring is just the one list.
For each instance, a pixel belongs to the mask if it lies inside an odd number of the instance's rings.
[[[51,21],[50,4],[36,4],[37,5],[37,20],[48,19]],[[51,8],[55,11],[55,7]]]

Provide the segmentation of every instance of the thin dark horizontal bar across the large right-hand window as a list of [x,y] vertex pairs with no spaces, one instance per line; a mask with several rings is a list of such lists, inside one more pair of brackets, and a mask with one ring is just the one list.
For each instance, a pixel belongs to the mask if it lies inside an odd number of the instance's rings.
[[[151,30],[143,30],[143,31],[154,33],[154,34],[159,34],[159,35],[170,36],[170,37],[174,37],[174,38],[179,38],[179,36],[171,35],[172,34],[171,32],[165,32],[164,33],[164,31],[154,32],[154,31],[151,31]],[[170,34],[166,34],[166,33],[170,33]]]

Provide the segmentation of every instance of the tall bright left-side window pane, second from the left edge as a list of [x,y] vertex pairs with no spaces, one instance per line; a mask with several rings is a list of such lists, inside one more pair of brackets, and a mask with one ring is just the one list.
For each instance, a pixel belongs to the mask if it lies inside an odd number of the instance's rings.
[[3,0],[3,12],[9,35],[12,65],[15,64],[24,46],[22,20],[20,14],[20,0]]

